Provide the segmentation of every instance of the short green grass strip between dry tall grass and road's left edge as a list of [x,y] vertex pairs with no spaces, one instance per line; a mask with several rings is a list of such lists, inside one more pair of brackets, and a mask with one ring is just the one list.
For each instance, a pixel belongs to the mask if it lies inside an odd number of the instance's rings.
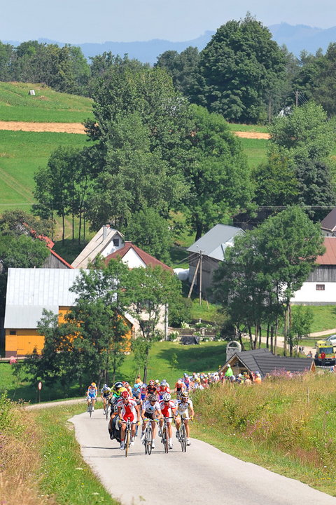
[[83,405],[38,409],[34,419],[41,436],[41,490],[57,505],[117,505],[80,455],[73,425],[67,419]]

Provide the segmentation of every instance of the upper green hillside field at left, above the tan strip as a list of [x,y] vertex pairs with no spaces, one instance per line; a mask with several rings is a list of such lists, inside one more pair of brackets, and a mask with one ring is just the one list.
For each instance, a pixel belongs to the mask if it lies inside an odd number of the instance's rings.
[[[36,95],[29,95],[34,89]],[[41,84],[0,83],[0,121],[82,123],[92,116],[90,98],[57,93]]]

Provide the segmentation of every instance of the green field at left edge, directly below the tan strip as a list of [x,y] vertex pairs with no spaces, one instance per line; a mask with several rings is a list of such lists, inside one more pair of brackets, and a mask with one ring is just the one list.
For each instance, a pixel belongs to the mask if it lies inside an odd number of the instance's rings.
[[12,208],[29,211],[34,203],[34,173],[48,163],[60,145],[84,147],[85,135],[0,130],[0,212]]

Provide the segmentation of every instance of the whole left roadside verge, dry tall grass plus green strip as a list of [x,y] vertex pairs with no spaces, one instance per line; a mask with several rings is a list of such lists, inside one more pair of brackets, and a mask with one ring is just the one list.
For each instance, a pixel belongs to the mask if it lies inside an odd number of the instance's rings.
[[1,504],[117,505],[83,462],[73,426],[83,405],[27,411],[0,398]]

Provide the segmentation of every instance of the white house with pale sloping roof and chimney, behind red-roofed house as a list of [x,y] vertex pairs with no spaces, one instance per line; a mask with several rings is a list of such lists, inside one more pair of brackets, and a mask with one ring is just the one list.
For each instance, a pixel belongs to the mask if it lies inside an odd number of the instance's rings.
[[87,265],[98,255],[109,256],[116,250],[123,248],[124,236],[120,231],[111,228],[109,224],[97,231],[97,234],[85,246],[82,252],[73,260],[71,267],[75,269],[87,268]]

